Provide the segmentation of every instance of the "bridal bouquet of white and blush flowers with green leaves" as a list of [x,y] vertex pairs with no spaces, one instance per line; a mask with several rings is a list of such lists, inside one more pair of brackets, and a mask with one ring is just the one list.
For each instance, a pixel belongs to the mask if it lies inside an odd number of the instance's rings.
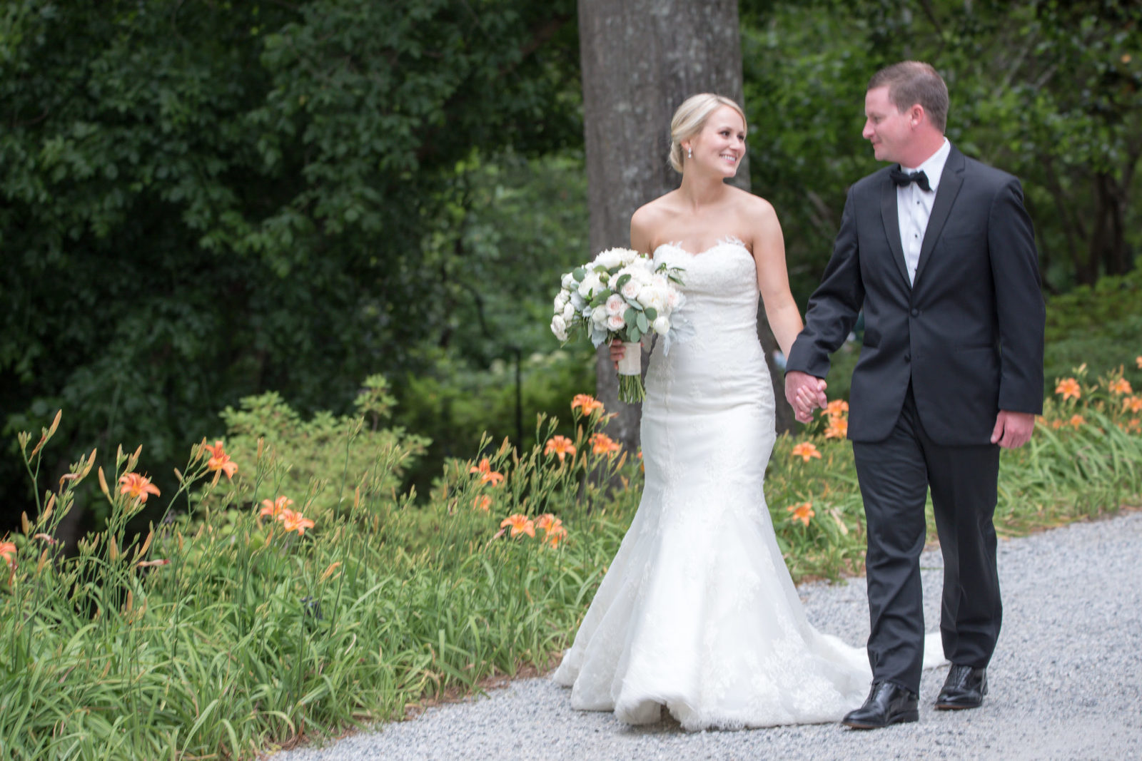
[[555,297],[552,332],[566,342],[582,329],[597,349],[619,339],[626,356],[619,362],[619,398],[642,402],[643,335],[664,338],[662,353],[670,342],[687,338],[693,331],[678,314],[685,301],[678,286],[682,269],[654,262],[630,249],[608,249],[595,260],[563,275]]

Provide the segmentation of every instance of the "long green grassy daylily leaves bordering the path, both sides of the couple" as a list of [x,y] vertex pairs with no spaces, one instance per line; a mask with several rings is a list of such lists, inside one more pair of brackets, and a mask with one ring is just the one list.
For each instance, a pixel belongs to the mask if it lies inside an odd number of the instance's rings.
[[[1133,373],[1133,374],[1129,374]],[[1135,387],[1140,373],[1128,373]],[[1078,377],[1081,398],[1048,402],[1031,444],[1004,452],[996,525],[1014,535],[1136,503],[1142,435],[1110,374]],[[1073,415],[1083,420],[1071,424]],[[119,453],[103,480],[111,518],[72,556],[50,543],[77,488],[100,479],[96,454],[39,493],[39,510],[10,537],[0,580],[0,756],[11,759],[255,758],[299,736],[399,719],[445,691],[493,674],[547,669],[570,637],[618,549],[641,493],[638,461],[593,454],[594,418],[576,418],[574,455],[542,443],[450,461],[425,504],[392,491],[400,453],[353,468],[286,477],[292,463],[255,443],[233,481],[212,481],[193,447],[172,501],[146,535],[119,476],[143,470]],[[355,427],[346,440],[354,446]],[[22,437],[38,479],[50,434]],[[803,461],[796,444],[820,458]],[[293,450],[289,450],[293,452]],[[296,456],[296,455],[291,455]],[[324,455],[321,455],[324,458]],[[319,458],[324,462],[323,459]],[[595,473],[597,478],[588,478]],[[604,488],[600,484],[611,484]],[[299,535],[260,517],[286,494],[315,526]],[[864,534],[852,452],[818,422],[779,439],[766,477],[771,516],[796,578],[859,573]],[[488,512],[476,507],[483,497]],[[807,524],[790,508],[809,503]],[[568,529],[516,537],[509,515],[554,513]],[[803,512],[803,515],[805,515]],[[144,544],[146,549],[143,549]],[[143,565],[169,561],[163,565]]]

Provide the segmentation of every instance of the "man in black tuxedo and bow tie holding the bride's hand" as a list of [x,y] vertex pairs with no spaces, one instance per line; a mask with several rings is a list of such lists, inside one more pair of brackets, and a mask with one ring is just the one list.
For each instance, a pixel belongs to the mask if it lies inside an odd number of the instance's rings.
[[877,72],[864,113],[864,138],[892,163],[849,191],[789,353],[786,397],[802,422],[825,406],[829,354],[863,309],[849,438],[868,524],[872,689],[843,723],[874,729],[919,715],[930,488],[952,664],[935,707],[974,709],[987,695],[1002,615],[999,447],[1026,444],[1042,411],[1044,306],[1019,180],[948,143],[948,88],[935,70],[908,60]]

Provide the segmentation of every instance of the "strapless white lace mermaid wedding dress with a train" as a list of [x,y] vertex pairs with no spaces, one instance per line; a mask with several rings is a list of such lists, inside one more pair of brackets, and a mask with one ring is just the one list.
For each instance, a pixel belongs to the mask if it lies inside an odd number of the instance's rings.
[[554,679],[573,707],[633,724],[662,706],[687,730],[839,721],[871,672],[863,648],[809,624],[773,533],[754,258],[725,241],[654,261],[685,270],[695,333],[651,355],[642,502]]

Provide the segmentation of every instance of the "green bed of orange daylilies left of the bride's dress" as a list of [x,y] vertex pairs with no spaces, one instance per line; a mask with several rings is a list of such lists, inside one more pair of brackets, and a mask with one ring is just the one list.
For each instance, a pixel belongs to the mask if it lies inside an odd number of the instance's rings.
[[[387,404],[383,392],[367,395],[357,429]],[[306,426],[260,402],[270,418],[281,413],[280,432]],[[424,507],[386,499],[394,475],[378,465],[359,500],[313,513],[315,525],[300,533],[256,504],[259,484],[289,483],[308,453],[290,450],[298,460],[287,460],[265,445],[239,461],[231,489],[208,484],[208,458],[195,447],[175,495],[187,513],[132,537],[127,524],[142,504],[104,487],[110,521],[66,557],[51,535],[85,479],[95,472],[100,485],[115,484],[140,465],[138,453],[120,454],[105,478],[95,453],[72,463],[73,477],[45,494],[15,549],[3,548],[5,758],[254,758],[303,730],[400,718],[450,686],[546,667],[637,500],[636,461],[593,452],[600,414],[573,418],[577,452],[565,460],[537,445],[500,447],[483,470],[450,462]],[[267,424],[265,415],[247,422]],[[537,438],[556,427],[540,420]],[[55,431],[31,451],[21,437],[33,478]],[[347,469],[373,443],[349,430],[340,446]],[[544,511],[560,523],[544,528]],[[498,531],[510,513],[532,521],[534,536]]]

